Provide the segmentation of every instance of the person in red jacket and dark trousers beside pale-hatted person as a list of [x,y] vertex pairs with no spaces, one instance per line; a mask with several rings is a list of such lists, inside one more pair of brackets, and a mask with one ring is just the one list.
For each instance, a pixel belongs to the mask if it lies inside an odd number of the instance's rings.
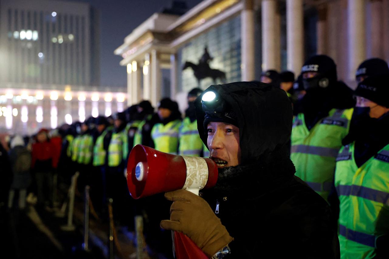
[[32,145],[31,163],[37,183],[38,206],[52,204],[53,169],[58,163],[55,150],[47,129],[40,129],[36,136],[36,143]]

